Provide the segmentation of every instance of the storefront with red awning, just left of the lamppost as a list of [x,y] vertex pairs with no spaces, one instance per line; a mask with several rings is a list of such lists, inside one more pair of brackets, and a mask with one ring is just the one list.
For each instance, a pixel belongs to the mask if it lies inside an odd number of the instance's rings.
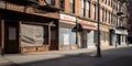
[[97,44],[97,23],[78,19],[79,48],[95,47]]

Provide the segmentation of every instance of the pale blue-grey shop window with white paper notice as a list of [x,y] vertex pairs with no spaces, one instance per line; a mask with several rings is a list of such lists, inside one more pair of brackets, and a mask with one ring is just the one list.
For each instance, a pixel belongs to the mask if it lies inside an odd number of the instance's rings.
[[72,32],[72,29],[59,28],[59,44],[76,44],[76,32]]

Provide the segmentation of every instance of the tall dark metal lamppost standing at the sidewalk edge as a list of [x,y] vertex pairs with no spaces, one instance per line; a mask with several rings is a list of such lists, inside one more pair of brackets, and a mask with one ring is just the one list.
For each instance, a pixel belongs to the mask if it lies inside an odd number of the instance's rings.
[[97,0],[97,23],[98,23],[98,44],[97,44],[97,57],[101,57],[100,48],[100,23],[99,23],[99,0]]

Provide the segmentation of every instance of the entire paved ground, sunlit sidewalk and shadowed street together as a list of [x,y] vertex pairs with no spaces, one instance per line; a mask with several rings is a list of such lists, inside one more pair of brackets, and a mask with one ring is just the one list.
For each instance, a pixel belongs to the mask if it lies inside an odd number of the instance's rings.
[[[102,57],[94,57],[96,48],[13,54],[0,57],[0,66],[117,66],[131,65],[132,46],[101,47]],[[123,63],[124,62],[124,63]],[[131,65],[132,66],[132,65]]]

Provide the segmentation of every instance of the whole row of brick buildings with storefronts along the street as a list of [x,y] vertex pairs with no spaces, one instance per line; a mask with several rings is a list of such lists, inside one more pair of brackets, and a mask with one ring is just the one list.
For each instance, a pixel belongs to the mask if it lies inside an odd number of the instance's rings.
[[[101,46],[125,44],[125,3],[100,1]],[[6,53],[95,47],[97,0],[0,0],[0,47]],[[120,29],[121,28],[121,29]]]

